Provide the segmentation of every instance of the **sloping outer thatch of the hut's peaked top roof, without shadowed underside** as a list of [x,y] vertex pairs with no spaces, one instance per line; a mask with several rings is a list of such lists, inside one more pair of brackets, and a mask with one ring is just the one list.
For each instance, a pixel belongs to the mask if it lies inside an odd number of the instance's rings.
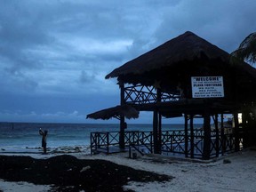
[[[230,60],[230,57],[228,52],[221,50],[200,36],[187,31],[155,49],[140,55],[140,57],[126,62],[123,66],[114,69],[106,78],[119,77],[124,80],[124,83],[126,80],[126,83],[133,83],[129,82],[127,76],[131,76],[131,80],[134,76],[139,77],[147,74],[147,72],[156,72],[159,69],[165,70],[165,68],[172,67],[175,70],[175,67],[180,66],[179,69],[184,70],[188,68],[188,65],[193,65],[192,67],[196,68],[196,63],[200,65],[200,60],[204,63],[201,63],[200,68],[203,67],[206,69],[210,67],[218,69],[223,64],[232,68],[234,67],[234,60]],[[236,67],[243,68],[245,71],[251,74],[253,73],[256,76],[256,69],[241,60],[236,62]]]

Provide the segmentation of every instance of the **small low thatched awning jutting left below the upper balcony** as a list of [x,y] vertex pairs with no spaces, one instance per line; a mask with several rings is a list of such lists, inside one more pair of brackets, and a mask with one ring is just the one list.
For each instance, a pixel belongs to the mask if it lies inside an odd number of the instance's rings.
[[95,113],[87,115],[86,118],[108,120],[112,117],[120,118],[120,116],[125,116],[125,118],[131,119],[138,118],[139,114],[140,112],[135,108],[132,108],[132,106],[124,105],[97,111]]

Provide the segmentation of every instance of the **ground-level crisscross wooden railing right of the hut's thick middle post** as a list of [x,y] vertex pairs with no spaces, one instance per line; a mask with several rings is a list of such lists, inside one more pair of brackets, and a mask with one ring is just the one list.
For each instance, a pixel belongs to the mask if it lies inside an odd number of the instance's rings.
[[[193,137],[188,131],[188,147],[186,148],[185,131],[162,132],[162,152],[185,154],[202,157],[204,155],[204,131],[195,130]],[[243,149],[243,139],[239,139],[239,149]],[[235,150],[235,137],[226,133],[216,139],[216,132],[211,132],[210,157],[219,156]]]

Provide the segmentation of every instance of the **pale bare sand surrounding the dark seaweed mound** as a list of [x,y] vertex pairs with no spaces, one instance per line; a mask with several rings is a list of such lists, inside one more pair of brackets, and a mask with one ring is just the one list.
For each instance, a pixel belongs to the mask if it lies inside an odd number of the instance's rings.
[[[130,182],[124,188],[129,188],[138,192],[156,191],[200,191],[200,192],[232,192],[232,191],[256,191],[256,151],[246,150],[224,156],[216,162],[192,163],[180,161],[174,158],[160,158],[159,156],[141,156],[137,159],[127,158],[127,154],[122,155],[96,155],[88,156],[83,154],[73,154],[83,159],[104,159],[116,164],[124,164],[134,169],[145,170],[166,174],[174,177],[169,182],[139,183]],[[33,156],[36,158],[46,158],[47,156]],[[223,160],[229,160],[230,164],[223,164]],[[35,186],[26,182],[15,184],[0,180],[0,189],[4,191],[47,191],[50,186]],[[17,186],[18,185],[18,186]],[[22,188],[24,190],[22,190]]]

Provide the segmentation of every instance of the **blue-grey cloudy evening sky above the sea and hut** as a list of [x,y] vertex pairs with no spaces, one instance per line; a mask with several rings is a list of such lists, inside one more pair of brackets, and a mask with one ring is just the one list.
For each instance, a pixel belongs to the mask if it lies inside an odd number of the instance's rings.
[[[113,69],[192,31],[226,52],[256,31],[255,0],[0,0],[0,121],[100,123]],[[148,122],[141,114],[141,123]]]

